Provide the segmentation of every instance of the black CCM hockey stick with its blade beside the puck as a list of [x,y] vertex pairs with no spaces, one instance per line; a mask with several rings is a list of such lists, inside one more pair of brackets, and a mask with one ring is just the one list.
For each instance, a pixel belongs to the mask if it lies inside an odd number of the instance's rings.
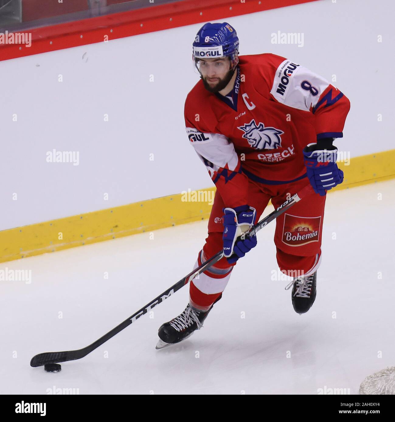
[[[275,211],[271,212],[269,215],[264,217],[261,221],[256,223],[256,225],[252,226],[246,233],[244,233],[242,236],[251,236],[255,235],[257,231],[261,230],[262,227],[265,227],[268,223],[270,223],[272,220],[276,219],[279,215],[283,214],[284,211],[289,209],[291,206],[293,206],[295,203],[299,202],[303,197],[306,195],[309,195],[313,192],[313,189],[311,188],[311,185],[304,187],[300,192],[293,195],[291,198],[286,200],[281,206],[279,206]],[[186,275],[183,279],[178,281],[176,284],[174,284],[172,287],[167,289],[165,292],[163,292],[161,295],[156,297],[154,300],[152,300],[148,305],[141,308],[139,311],[134,313],[131,317],[128,319],[125,319],[125,321],[121,322],[120,325],[117,325],[115,328],[113,328],[111,331],[109,331],[107,334],[103,335],[103,337],[99,338],[89,346],[84,347],[83,349],[78,350],[68,350],[65,352],[46,352],[46,353],[39,353],[33,356],[32,360],[30,361],[30,366],[42,366],[46,363],[57,363],[57,362],[67,362],[68,360],[76,360],[81,359],[82,357],[86,356],[88,353],[92,352],[99,346],[101,346],[103,343],[105,343],[107,340],[112,338],[115,334],[122,331],[124,328],[126,328],[128,325],[130,325],[132,322],[135,322],[136,319],[139,319],[142,315],[146,314],[150,309],[152,309],[154,306],[158,305],[158,303],[163,302],[163,300],[167,299],[170,295],[177,292],[177,290],[181,289],[181,287],[185,286],[185,284],[188,284],[189,281],[194,279],[196,276],[201,274],[203,271],[206,271],[207,268],[210,268],[212,265],[215,264],[215,262],[218,262],[223,257],[223,250],[219,251],[217,254],[215,254],[213,257],[211,257],[209,260],[204,262],[202,265],[197,267],[195,270],[193,270],[191,273]]]

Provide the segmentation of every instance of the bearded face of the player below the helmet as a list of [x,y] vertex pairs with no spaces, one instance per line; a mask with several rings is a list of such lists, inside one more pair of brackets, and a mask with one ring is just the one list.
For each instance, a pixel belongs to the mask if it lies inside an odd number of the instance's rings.
[[199,60],[204,87],[210,92],[224,89],[233,76],[233,69],[230,70],[230,65],[228,57]]

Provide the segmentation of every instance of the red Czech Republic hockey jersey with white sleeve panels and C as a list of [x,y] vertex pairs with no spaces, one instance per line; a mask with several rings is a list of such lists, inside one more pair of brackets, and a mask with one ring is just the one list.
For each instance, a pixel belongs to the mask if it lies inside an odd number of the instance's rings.
[[306,176],[302,149],[341,138],[350,102],[321,76],[275,54],[239,57],[232,91],[199,80],[185,100],[185,127],[228,207],[248,203],[248,178],[286,184]]

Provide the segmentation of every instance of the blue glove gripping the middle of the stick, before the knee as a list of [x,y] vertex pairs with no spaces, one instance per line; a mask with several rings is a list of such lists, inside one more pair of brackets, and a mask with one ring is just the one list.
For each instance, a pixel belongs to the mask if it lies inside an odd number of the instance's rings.
[[225,208],[224,212],[223,254],[232,264],[256,246],[256,236],[237,239],[253,226],[256,211],[253,207],[243,205],[236,208]]

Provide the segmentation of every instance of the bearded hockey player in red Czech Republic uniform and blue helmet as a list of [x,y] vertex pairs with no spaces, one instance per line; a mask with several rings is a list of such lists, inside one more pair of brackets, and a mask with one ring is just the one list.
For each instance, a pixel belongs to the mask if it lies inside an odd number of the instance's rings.
[[236,30],[227,22],[200,28],[193,60],[201,80],[185,100],[186,132],[217,188],[194,268],[221,247],[224,257],[191,281],[188,306],[161,325],[157,349],[202,327],[236,261],[256,246],[255,236],[236,239],[269,200],[278,207],[310,183],[315,193],[276,219],[274,236],[280,270],[298,275],[294,310],[307,312],[316,298],[326,191],[343,181],[333,146],[350,108],[342,92],[284,57],[239,57]]

